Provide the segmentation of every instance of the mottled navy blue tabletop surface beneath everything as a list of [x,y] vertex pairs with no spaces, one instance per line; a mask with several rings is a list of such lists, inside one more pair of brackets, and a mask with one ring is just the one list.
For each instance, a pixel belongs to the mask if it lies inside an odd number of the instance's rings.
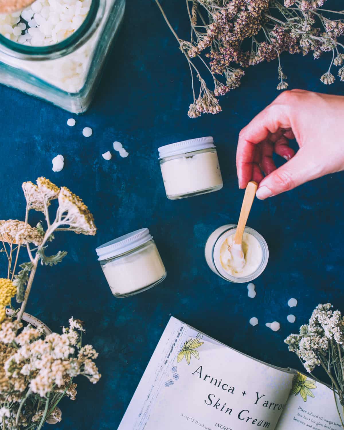
[[[21,184],[44,175],[80,195],[98,227],[95,237],[56,234],[49,252],[64,249],[68,255],[56,267],[39,267],[27,307],[55,331],[71,315],[84,320],[83,340],[100,353],[100,382],[77,380],[77,399],[61,403],[59,429],[117,428],[170,315],[258,359],[301,369],[283,339],[306,322],[319,302],[344,310],[342,173],[254,203],[248,225],[270,249],[267,268],[255,281],[255,299],[247,297],[246,285],[225,282],[204,260],[209,234],[238,219],[243,191],[235,169],[237,136],[278,95],[276,62],[247,70],[241,87],[221,99],[221,114],[190,120],[189,70],[175,39],[153,1],[128,3],[98,94],[76,126],[66,124],[71,114],[0,88],[0,218],[23,219]],[[172,3],[163,6],[187,38],[184,2],[178,2],[180,9]],[[342,94],[339,79],[332,86],[319,81],[329,61],[329,56],[315,61],[311,55],[283,55],[290,88]],[[83,137],[85,126],[92,127],[92,137]],[[167,200],[157,147],[207,135],[218,147],[224,188]],[[101,154],[115,140],[123,142],[129,157],[103,160]],[[64,155],[65,168],[54,173],[51,160],[57,154]],[[35,213],[31,221],[39,219]],[[167,279],[132,298],[114,298],[94,250],[141,227],[154,235]],[[292,311],[287,306],[291,297],[299,301]],[[287,322],[289,313],[296,315],[295,324]],[[259,319],[254,328],[252,316]],[[276,333],[265,327],[274,320],[281,323]]]

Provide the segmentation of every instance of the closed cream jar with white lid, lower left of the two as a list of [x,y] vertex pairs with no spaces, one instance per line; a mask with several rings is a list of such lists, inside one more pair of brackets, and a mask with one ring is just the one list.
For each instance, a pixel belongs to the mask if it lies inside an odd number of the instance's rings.
[[147,228],[133,231],[95,250],[115,297],[128,297],[154,287],[166,269]]

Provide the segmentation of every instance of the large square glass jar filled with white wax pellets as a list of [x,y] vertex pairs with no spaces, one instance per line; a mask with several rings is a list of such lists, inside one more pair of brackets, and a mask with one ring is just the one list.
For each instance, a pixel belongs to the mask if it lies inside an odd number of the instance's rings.
[[87,110],[126,0],[36,0],[0,15],[0,83]]

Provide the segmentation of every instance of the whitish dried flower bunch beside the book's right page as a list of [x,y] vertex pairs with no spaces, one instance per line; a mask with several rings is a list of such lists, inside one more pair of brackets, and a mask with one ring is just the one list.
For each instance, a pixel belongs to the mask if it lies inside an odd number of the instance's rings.
[[[321,366],[338,395],[344,414],[344,318],[339,310],[332,310],[332,304],[319,304],[312,313],[309,323],[300,327],[298,335],[290,335],[285,343],[295,353],[308,373]],[[343,418],[339,413],[344,428]]]

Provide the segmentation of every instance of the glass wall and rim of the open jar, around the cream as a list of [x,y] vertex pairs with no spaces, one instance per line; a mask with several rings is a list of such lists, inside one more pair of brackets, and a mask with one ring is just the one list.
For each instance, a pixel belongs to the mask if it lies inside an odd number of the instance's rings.
[[[269,259],[269,249],[267,247],[267,243],[257,231],[253,230],[253,228],[245,227],[245,233],[252,235],[255,238],[255,243],[257,245],[258,254],[258,264],[255,264],[255,270],[252,273],[246,274],[244,276],[233,276],[228,273],[221,264],[221,247],[226,242],[227,238],[230,238],[237,231],[236,224],[227,224],[216,229],[208,238],[206,247],[205,247],[205,257],[208,266],[211,270],[216,273],[221,278],[226,279],[227,281],[233,283],[246,283],[250,282],[255,278],[258,278],[261,273],[263,273],[267,261]],[[246,250],[243,249],[244,254],[246,254]],[[245,255],[246,256],[246,255]],[[247,263],[246,263],[247,264]]]

